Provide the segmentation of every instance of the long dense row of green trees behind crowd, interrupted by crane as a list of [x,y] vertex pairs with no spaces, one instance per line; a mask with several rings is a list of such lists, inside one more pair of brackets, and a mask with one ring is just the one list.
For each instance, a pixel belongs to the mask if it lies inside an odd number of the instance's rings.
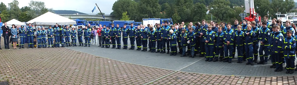
[[[262,17],[268,15],[277,18],[276,13],[297,12],[293,9],[294,0],[254,0],[254,5],[255,11]],[[241,19],[239,14],[245,8],[244,0],[118,0],[114,2],[112,10],[111,15],[117,19],[127,15],[129,20],[137,22],[141,22],[142,18],[200,22],[202,19],[211,20],[211,17],[216,21],[232,22]]]

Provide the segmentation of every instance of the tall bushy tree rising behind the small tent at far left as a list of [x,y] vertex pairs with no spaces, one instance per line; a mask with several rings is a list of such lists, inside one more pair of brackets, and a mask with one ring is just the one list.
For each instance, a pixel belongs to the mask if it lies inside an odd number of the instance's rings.
[[21,10],[19,9],[19,2],[17,0],[13,0],[11,3],[8,3],[9,7],[9,14],[10,14],[10,19],[19,19],[19,14]]

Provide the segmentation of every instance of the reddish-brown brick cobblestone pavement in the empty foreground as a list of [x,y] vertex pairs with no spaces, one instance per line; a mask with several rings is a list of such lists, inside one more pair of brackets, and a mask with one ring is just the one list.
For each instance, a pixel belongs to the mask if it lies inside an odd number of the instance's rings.
[[[9,82],[10,85],[296,85],[297,83],[295,75],[249,77],[189,73],[180,71],[182,69],[166,70],[125,63],[67,48],[3,49],[3,43],[1,47],[0,81]],[[184,69],[186,67],[188,66],[184,66]]]

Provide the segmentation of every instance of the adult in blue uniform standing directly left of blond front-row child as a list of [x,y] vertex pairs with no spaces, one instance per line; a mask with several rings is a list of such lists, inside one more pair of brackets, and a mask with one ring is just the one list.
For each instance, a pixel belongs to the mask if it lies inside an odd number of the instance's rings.
[[167,39],[167,37],[169,36],[169,30],[170,30],[170,27],[167,25],[168,22],[165,21],[164,22],[164,25],[163,26],[163,30],[162,30],[162,33],[161,33],[161,39],[162,39],[162,46],[163,46],[163,52],[162,53],[165,53],[166,52],[166,46],[167,46],[167,54],[169,54],[169,40]]

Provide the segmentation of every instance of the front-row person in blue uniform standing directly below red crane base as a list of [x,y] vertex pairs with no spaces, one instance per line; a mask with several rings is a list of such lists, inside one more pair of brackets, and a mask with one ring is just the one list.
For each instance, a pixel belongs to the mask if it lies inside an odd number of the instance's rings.
[[253,38],[255,36],[255,32],[251,30],[252,26],[251,25],[247,25],[247,31],[244,32],[244,48],[245,48],[245,54],[246,54],[246,58],[247,58],[247,63],[246,65],[251,64],[251,66],[254,66],[253,63]]

